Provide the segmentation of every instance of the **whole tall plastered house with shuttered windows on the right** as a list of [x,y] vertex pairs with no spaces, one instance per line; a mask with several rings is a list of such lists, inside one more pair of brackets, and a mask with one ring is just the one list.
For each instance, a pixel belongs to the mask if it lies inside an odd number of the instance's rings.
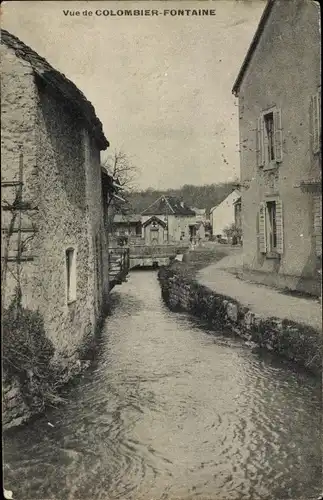
[[244,268],[313,294],[322,258],[320,45],[318,2],[270,0],[233,87]]

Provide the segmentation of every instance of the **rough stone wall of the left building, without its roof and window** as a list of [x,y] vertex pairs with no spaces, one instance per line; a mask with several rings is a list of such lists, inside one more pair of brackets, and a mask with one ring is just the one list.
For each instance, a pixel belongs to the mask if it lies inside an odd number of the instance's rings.
[[[22,305],[43,318],[61,384],[82,369],[80,349],[100,327],[109,290],[100,149],[68,100],[36,77],[28,62],[4,44],[1,55],[1,180],[18,180],[22,154],[23,201],[34,208],[22,212],[22,227],[34,228],[23,233],[23,239],[32,235],[24,255],[34,260],[22,264]],[[3,189],[2,200],[12,203],[15,191]],[[11,217],[12,212],[2,212],[3,227]],[[17,233],[9,246],[16,255]],[[69,248],[76,256],[74,301],[67,298]],[[16,263],[9,263],[2,282],[4,308],[15,297],[16,271]],[[5,385],[3,416],[10,425],[30,416],[20,388],[16,380]]]

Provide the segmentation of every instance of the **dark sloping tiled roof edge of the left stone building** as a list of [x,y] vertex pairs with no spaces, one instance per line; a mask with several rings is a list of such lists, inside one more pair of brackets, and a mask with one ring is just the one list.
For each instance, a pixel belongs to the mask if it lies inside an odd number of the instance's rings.
[[1,43],[13,49],[16,56],[31,65],[35,74],[44,82],[54,87],[66,101],[70,102],[83,116],[89,132],[96,139],[101,150],[109,146],[103,133],[102,123],[95,114],[92,104],[84,94],[65,75],[54,69],[43,57],[25,45],[19,38],[6,30],[1,30]]

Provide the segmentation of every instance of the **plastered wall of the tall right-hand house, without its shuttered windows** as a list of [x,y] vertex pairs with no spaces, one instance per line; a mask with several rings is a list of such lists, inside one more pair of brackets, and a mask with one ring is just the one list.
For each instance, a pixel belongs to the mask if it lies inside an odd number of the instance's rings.
[[[277,277],[278,285],[280,276],[286,276],[292,289],[309,293],[313,284],[307,278],[320,281],[313,195],[296,186],[321,178],[321,159],[312,151],[310,111],[321,82],[319,16],[316,2],[275,2],[239,91],[244,266]],[[295,68],[297,77],[292,78]],[[257,120],[273,107],[281,110],[283,156],[266,170],[257,167]],[[270,197],[283,203],[284,248],[276,258],[259,249],[260,203]]]

